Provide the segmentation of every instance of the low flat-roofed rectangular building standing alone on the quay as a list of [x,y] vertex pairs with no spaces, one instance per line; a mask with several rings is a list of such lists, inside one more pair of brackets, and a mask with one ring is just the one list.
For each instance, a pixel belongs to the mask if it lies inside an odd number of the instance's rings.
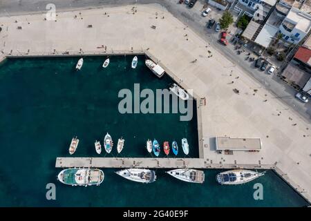
[[260,138],[216,137],[216,151],[260,151]]

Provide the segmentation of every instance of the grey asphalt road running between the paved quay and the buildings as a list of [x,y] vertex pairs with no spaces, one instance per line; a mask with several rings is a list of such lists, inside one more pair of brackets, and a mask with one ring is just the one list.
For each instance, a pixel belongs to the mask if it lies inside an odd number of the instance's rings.
[[[311,121],[311,102],[303,104],[294,98],[296,90],[286,85],[275,75],[267,75],[254,68],[254,64],[245,61],[245,55],[237,55],[234,46],[223,46],[218,43],[219,33],[214,31],[214,28],[207,29],[207,17],[201,16],[202,6],[205,0],[199,0],[194,8],[189,8],[184,3],[179,4],[179,0],[1,0],[0,1],[0,16],[23,15],[29,13],[46,12],[46,5],[54,3],[56,10],[73,10],[77,8],[97,8],[101,6],[121,6],[134,3],[159,3],[177,17],[180,21],[185,23],[191,29],[195,30],[200,37],[206,39],[213,48],[216,48],[220,53],[223,53],[235,65],[241,66],[245,72],[249,73],[254,79],[261,83],[263,88],[274,93],[274,99],[281,99],[284,104],[290,106],[297,113],[301,115],[307,122]],[[215,8],[211,13],[212,17],[220,17],[219,12]],[[260,90],[260,88],[258,88]],[[284,108],[282,111],[286,111]],[[281,110],[275,110],[281,111]]]

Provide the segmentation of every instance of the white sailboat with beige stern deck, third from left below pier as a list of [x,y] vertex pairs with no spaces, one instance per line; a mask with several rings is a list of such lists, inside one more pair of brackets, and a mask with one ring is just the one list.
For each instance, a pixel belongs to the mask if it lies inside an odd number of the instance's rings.
[[178,180],[197,184],[202,184],[205,179],[204,171],[194,169],[175,169],[172,171],[167,171],[165,173],[176,177]]

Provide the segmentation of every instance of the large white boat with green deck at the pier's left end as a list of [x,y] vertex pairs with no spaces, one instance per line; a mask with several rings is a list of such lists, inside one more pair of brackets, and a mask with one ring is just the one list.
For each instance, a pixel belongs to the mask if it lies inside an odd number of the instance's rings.
[[99,186],[104,180],[104,172],[100,169],[64,169],[57,179],[71,186]]

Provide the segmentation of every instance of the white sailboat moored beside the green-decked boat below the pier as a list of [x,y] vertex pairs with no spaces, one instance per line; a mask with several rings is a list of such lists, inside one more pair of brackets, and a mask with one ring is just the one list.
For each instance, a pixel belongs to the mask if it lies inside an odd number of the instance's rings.
[[122,171],[115,172],[127,180],[135,182],[151,183],[156,181],[156,172],[149,169],[124,169]]

